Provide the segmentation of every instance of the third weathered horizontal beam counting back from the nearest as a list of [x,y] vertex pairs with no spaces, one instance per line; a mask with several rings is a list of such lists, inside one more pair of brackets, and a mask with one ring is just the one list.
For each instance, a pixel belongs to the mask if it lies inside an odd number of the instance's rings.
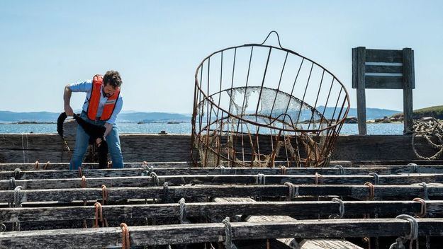
[[[424,197],[424,188],[419,185],[374,185],[374,197],[403,197],[412,199]],[[429,197],[443,197],[443,186],[429,184]],[[335,195],[344,197],[364,198],[369,196],[366,185],[299,185],[301,196]],[[76,200],[96,200],[102,198],[100,187],[22,190],[21,202],[73,202]],[[185,199],[190,197],[280,197],[288,195],[286,185],[204,185],[204,186],[171,186],[169,197]],[[164,197],[163,187],[108,187],[108,201],[117,202],[125,199],[161,199]],[[13,190],[0,190],[0,202],[11,202]]]

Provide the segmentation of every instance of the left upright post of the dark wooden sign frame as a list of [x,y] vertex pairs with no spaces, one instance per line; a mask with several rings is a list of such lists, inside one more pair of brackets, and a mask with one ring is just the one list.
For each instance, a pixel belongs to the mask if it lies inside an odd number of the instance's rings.
[[365,58],[366,47],[352,49],[352,86],[357,88],[357,119],[359,120],[359,134],[366,135],[366,95],[365,95]]

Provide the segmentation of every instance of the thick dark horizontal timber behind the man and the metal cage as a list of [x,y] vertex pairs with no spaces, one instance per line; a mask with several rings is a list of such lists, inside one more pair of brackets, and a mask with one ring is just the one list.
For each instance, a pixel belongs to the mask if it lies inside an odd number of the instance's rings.
[[[174,135],[164,135],[163,139],[170,139],[167,143],[159,144],[159,139],[153,137],[150,134],[138,134],[128,135],[120,134],[120,141],[131,141],[123,146],[123,156],[125,161],[189,161],[189,149],[181,146],[181,144],[190,144],[191,136],[183,135],[176,137]],[[25,155],[27,151],[33,154],[29,155],[29,162],[33,163],[36,160],[40,163],[51,161],[51,164],[60,162],[60,156],[53,157],[54,154],[60,154],[60,146],[57,141],[59,137],[51,134],[28,134],[29,140],[32,144],[29,144],[29,148],[33,149],[35,146],[40,146],[42,149],[30,151],[22,149],[21,136],[17,134],[0,134],[0,146],[14,146],[14,153],[17,155],[9,154],[8,151],[0,148],[0,163],[23,163],[23,151]],[[420,137],[417,137],[417,142],[421,142]],[[133,144],[148,143],[152,146],[157,146],[156,150],[139,150],[133,148]],[[270,139],[260,141],[261,146],[269,146]],[[13,145],[14,144],[14,145]],[[55,144],[57,144],[55,146]],[[377,144],[377,146],[374,146]],[[269,146],[270,147],[270,146]],[[175,151],[174,155],[164,154],[161,157],[155,155],[161,151]],[[133,154],[133,152],[135,153]],[[128,153],[128,155],[127,155]],[[130,156],[130,155],[132,156]],[[34,155],[34,156],[32,156]],[[65,156],[64,162],[69,161],[70,156]],[[157,160],[156,160],[157,158]],[[443,158],[443,156],[442,156]],[[440,158],[440,159],[442,159]],[[337,138],[337,143],[332,154],[332,160],[347,160],[347,161],[387,161],[387,160],[417,160],[411,146],[410,136],[400,135],[370,135],[370,136],[356,136],[356,135],[344,135]],[[342,163],[337,163],[342,164]],[[407,164],[407,163],[406,163]],[[343,164],[342,164],[343,165]],[[332,164],[332,166],[334,166]],[[57,169],[67,169],[57,168]],[[54,168],[55,169],[55,168]],[[13,170],[13,168],[11,168]]]

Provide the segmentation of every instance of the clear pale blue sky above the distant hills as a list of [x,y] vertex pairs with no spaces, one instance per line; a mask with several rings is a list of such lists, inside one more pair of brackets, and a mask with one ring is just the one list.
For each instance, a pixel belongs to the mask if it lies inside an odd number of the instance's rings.
[[[59,112],[67,83],[116,69],[123,110],[190,113],[201,60],[270,30],[332,71],[353,107],[352,47],[412,47],[414,108],[442,105],[442,13],[443,1],[2,0],[0,110]],[[366,105],[402,110],[403,93],[367,90]]]

